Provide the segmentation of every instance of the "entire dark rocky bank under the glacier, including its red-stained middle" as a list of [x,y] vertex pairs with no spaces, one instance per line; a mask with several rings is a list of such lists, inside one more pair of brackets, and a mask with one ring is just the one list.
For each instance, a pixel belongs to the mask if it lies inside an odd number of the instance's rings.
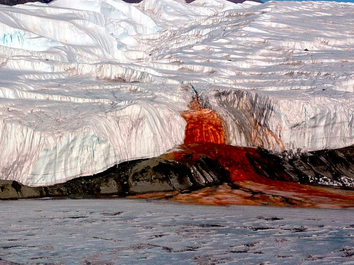
[[177,152],[129,161],[105,172],[45,187],[0,180],[0,199],[106,197],[181,191],[191,192],[223,182],[271,180],[354,189],[354,146],[274,154],[265,149],[199,143]]

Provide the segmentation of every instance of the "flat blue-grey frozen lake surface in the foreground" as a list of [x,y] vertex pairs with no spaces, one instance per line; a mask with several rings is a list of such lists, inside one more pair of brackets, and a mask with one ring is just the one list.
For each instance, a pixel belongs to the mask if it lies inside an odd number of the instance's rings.
[[354,264],[354,210],[1,201],[0,265]]

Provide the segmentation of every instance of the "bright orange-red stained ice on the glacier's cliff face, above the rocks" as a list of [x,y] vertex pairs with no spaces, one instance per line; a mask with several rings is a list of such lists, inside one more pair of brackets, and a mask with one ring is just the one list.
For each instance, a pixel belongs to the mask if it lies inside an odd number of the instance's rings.
[[184,143],[225,144],[224,128],[217,113],[200,107],[197,99],[192,101],[190,107],[191,110],[181,113],[181,116],[187,121]]

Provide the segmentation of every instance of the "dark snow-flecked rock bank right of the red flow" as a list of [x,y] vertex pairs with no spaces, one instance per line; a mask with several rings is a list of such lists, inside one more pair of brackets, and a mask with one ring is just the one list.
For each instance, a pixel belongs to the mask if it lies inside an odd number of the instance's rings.
[[246,157],[258,174],[272,180],[354,187],[354,146],[299,154],[259,148]]

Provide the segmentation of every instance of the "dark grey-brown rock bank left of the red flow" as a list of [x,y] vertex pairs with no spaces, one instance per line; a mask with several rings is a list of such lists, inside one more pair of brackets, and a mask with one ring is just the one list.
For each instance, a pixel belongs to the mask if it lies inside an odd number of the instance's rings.
[[217,162],[201,156],[182,162],[160,157],[129,161],[105,172],[44,187],[29,187],[0,180],[0,199],[43,197],[105,197],[139,193],[196,190],[227,181],[229,172]]

